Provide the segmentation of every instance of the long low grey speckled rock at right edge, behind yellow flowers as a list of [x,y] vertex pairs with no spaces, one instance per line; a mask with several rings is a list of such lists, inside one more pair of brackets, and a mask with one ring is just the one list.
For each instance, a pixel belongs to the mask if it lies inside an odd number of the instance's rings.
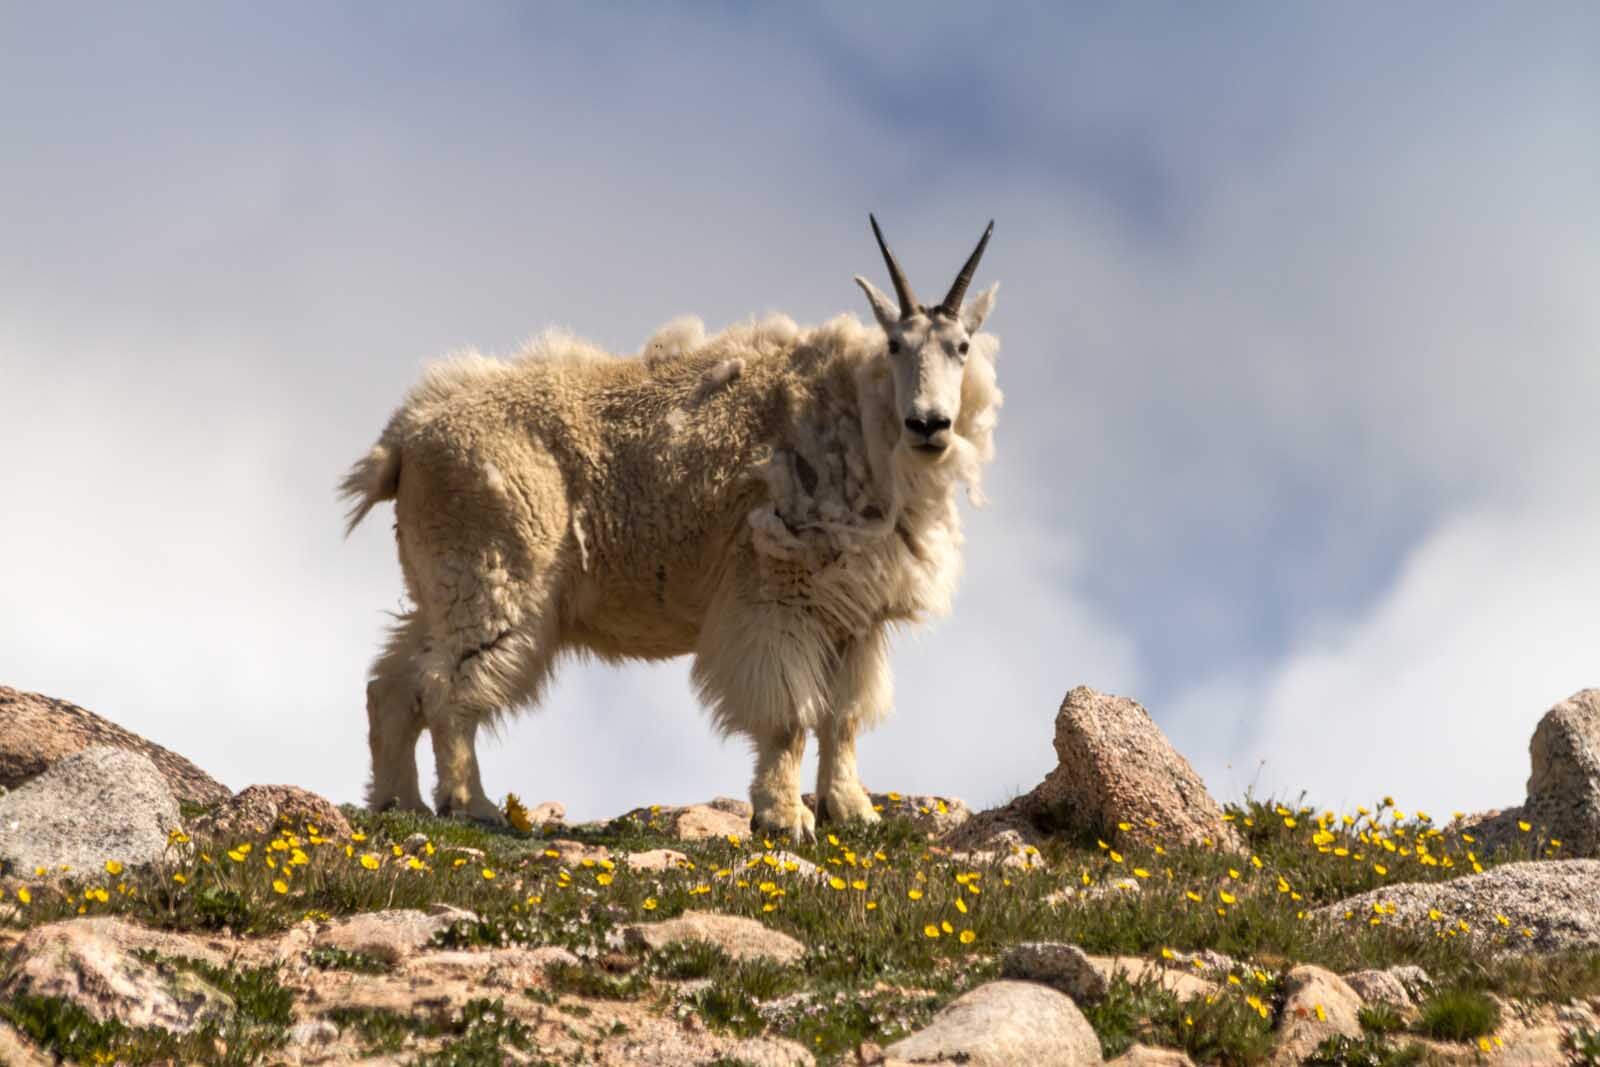
[[[1394,905],[1382,921],[1427,928],[1427,912],[1443,921],[1466,920],[1459,936],[1493,941],[1512,953],[1549,953],[1600,947],[1600,859],[1530,861],[1501,864],[1480,875],[1426,883],[1403,881],[1330,904],[1312,912],[1323,921],[1365,923],[1374,904]],[[1506,923],[1496,917],[1504,915]],[[1458,928],[1459,929],[1459,928]],[[1531,937],[1522,931],[1531,931]]]

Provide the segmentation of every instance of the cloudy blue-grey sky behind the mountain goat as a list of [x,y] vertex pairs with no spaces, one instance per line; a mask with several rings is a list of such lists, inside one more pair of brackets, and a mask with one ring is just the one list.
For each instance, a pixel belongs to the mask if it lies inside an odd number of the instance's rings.
[[[1222,800],[1522,798],[1600,685],[1600,10],[0,0],[0,685],[358,801],[400,608],[334,483],[421,368],[1002,283],[955,613],[877,790],[1090,685]],[[424,790],[432,781],[421,745]],[[688,664],[480,741],[573,817],[744,795]]]

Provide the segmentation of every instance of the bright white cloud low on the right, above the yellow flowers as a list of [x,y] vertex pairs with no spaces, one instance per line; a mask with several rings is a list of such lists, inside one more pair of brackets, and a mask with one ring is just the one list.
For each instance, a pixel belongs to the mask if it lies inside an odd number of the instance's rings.
[[1213,784],[1338,809],[1520,803],[1539,717],[1595,683],[1595,530],[1592,501],[1453,517],[1370,613],[1179,701],[1179,747]]

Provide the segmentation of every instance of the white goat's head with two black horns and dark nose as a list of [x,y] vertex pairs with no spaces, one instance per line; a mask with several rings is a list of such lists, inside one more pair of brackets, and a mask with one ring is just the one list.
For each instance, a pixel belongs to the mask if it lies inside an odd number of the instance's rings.
[[962,378],[966,373],[971,338],[995,304],[997,285],[979,293],[971,304],[962,304],[995,224],[989,222],[978,248],[966,258],[966,266],[955,275],[955,283],[944,299],[928,307],[917,302],[906,272],[883,240],[877,218],[870,214],[867,218],[872,221],[878,248],[883,250],[883,262],[888,264],[899,307],[861,275],[856,275],[856,285],[867,294],[872,315],[888,338],[886,358],[894,378],[894,403],[904,427],[902,438],[918,454],[934,459],[949,448],[950,427],[962,414]]

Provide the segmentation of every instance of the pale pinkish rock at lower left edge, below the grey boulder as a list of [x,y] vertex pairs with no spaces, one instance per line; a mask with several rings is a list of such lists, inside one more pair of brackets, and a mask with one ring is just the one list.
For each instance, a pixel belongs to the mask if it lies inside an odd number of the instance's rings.
[[117,1019],[130,1027],[176,1032],[232,1011],[232,1001],[208,982],[189,971],[146,963],[134,955],[141,949],[214,965],[226,961],[197,939],[146,931],[110,917],[77,918],[35,926],[22,936],[11,949],[0,998],[62,997],[102,1022]]

